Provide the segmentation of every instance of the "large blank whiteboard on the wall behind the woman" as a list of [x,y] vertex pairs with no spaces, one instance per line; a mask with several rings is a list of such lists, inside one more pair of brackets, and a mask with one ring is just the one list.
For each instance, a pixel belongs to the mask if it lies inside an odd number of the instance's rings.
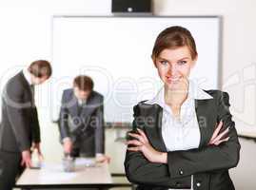
[[198,61],[191,78],[205,89],[219,87],[220,18],[54,16],[52,117],[58,117],[63,89],[79,74],[105,96],[106,122],[131,122],[132,106],[154,97],[162,86],[151,61],[157,35],[170,26],[188,28]]

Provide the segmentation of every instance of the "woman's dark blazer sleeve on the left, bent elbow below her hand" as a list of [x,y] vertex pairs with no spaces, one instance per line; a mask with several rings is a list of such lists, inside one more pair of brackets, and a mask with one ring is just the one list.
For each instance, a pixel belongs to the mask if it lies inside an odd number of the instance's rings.
[[[138,113],[137,106],[134,106],[133,110],[134,120],[132,123],[132,132],[136,132],[137,128],[144,130],[139,123],[140,114]],[[130,182],[144,185],[167,186],[170,188],[190,188],[190,177],[171,178],[167,164],[150,162],[141,152],[127,150],[124,164],[126,176]]]

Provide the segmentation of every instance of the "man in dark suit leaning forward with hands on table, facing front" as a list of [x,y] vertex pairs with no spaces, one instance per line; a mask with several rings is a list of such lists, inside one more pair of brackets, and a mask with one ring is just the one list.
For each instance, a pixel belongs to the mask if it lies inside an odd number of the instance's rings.
[[105,152],[104,97],[93,90],[89,76],[80,75],[73,88],[64,90],[59,130],[64,152],[71,157],[95,157],[109,161]]

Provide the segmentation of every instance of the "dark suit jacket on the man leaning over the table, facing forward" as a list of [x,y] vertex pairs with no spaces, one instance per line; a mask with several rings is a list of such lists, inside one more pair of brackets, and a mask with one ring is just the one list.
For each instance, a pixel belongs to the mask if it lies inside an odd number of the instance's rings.
[[73,89],[64,90],[59,121],[61,140],[71,138],[74,148],[81,149],[89,156],[104,153],[103,101],[104,97],[100,93],[92,91],[87,103],[80,107]]

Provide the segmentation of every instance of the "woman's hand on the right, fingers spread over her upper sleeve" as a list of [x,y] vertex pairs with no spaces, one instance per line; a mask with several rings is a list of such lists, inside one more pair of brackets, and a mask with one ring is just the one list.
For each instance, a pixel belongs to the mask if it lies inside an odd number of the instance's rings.
[[229,127],[227,127],[225,131],[219,133],[222,126],[223,126],[223,122],[221,121],[218,124],[218,126],[216,127],[216,129],[214,130],[212,137],[211,137],[210,141],[208,142],[208,144],[219,145],[220,143],[227,142],[229,140],[229,137],[224,138],[229,131]]

